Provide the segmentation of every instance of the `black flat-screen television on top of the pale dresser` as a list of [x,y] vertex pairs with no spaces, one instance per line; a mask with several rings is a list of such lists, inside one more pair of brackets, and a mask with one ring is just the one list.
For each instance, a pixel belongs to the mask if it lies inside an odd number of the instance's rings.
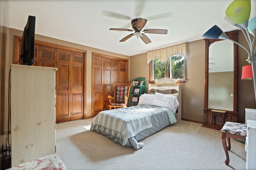
[[34,63],[34,41],[35,41],[36,17],[28,16],[28,22],[24,27],[22,35],[21,63],[32,65]]

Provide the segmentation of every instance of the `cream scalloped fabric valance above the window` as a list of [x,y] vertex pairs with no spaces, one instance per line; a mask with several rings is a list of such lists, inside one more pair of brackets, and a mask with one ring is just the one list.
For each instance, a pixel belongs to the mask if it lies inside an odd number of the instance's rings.
[[188,54],[188,45],[187,44],[180,44],[175,45],[172,47],[166,47],[159,50],[149,51],[148,52],[148,63],[152,59],[159,59],[161,61],[167,61],[169,57],[172,57],[174,55],[182,55],[184,57],[187,57]]

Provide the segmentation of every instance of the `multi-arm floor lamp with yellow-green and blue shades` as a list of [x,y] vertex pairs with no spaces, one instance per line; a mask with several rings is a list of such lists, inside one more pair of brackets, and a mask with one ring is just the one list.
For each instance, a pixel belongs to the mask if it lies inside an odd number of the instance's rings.
[[[208,39],[228,39],[233,41],[240,47],[246,50],[248,53],[248,61],[252,65],[253,72],[253,81],[254,81],[254,94],[256,99],[256,16],[250,19],[251,13],[251,1],[250,0],[234,0],[226,9],[225,20],[240,29],[248,42],[249,49],[241,45],[240,43],[228,38],[228,36],[218,27],[214,25],[203,37]],[[250,37],[250,34],[253,35],[253,40]]]

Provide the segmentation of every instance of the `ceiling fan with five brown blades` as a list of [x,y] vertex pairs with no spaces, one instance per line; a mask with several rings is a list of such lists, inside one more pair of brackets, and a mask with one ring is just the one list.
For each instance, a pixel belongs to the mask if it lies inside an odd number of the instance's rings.
[[[154,34],[167,34],[167,29],[144,29],[142,31],[142,28],[145,26],[147,20],[143,18],[136,18],[132,20],[132,29],[125,29],[125,28],[110,28],[109,30],[116,30],[116,31],[134,31],[134,33],[127,35],[123,39],[120,40],[120,42],[124,42],[133,35],[137,37],[137,39],[140,37],[144,43],[148,44],[151,43],[150,39],[144,34],[144,33],[154,33]],[[140,31],[144,32],[141,33]]]

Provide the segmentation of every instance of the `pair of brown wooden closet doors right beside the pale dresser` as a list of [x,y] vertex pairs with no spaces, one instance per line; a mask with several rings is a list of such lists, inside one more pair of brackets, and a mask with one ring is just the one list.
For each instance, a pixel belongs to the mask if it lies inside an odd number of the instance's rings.
[[83,118],[83,56],[57,49],[56,120],[57,123]]

